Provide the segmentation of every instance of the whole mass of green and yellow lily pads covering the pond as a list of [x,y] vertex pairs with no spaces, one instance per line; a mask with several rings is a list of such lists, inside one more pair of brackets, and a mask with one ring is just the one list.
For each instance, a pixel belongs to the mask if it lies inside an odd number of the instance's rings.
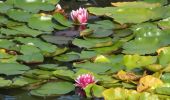
[[[170,5],[144,1],[89,7],[99,20],[74,37],[52,34],[73,27],[55,12],[58,0],[1,2],[0,88],[39,97],[75,92],[105,100],[168,100]],[[82,74],[97,81],[79,89],[75,79]]]

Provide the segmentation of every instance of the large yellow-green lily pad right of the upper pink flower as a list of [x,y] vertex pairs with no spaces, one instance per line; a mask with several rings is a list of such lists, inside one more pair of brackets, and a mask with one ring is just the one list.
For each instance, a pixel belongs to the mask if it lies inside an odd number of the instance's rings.
[[149,9],[149,6],[145,5],[149,4],[142,3],[141,5],[141,2],[136,2],[135,4],[133,2],[129,2],[127,5],[122,5],[120,7],[89,7],[88,10],[90,13],[95,15],[106,15],[114,18],[116,22],[121,24],[141,23],[160,17],[160,12],[153,10],[156,6],[151,6]]

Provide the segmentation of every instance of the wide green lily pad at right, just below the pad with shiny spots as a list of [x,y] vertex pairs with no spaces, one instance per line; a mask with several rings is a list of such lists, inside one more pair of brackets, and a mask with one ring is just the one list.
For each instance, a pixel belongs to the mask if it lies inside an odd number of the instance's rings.
[[158,38],[137,38],[123,44],[125,54],[152,54],[160,47]]

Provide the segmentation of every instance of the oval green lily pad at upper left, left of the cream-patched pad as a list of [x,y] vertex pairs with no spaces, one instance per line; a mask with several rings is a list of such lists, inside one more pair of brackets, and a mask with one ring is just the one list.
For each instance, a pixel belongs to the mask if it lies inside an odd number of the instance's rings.
[[16,10],[16,9],[8,10],[7,15],[12,19],[21,22],[27,22],[28,19],[32,16],[32,14],[29,12],[23,10]]

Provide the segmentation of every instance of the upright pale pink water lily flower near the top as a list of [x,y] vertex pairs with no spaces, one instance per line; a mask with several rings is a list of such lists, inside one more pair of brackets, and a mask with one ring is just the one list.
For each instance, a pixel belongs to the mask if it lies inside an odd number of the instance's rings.
[[86,24],[88,20],[88,12],[85,8],[79,8],[71,11],[71,18],[76,24]]

